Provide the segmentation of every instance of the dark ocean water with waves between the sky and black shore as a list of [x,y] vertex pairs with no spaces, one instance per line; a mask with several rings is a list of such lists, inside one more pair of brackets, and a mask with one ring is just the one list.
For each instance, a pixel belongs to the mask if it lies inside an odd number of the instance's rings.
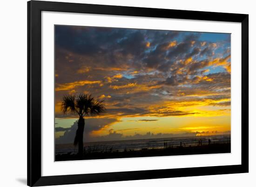
[[[100,141],[100,142],[85,142],[84,150],[86,152],[115,152],[115,151],[129,151],[141,149],[156,149],[164,147],[179,147],[181,144],[184,147],[198,146],[199,141],[202,145],[208,145],[209,140],[211,144],[215,143],[230,143],[231,137],[225,135],[211,135],[211,136],[196,136],[196,137],[174,137],[174,138],[159,138],[159,139],[141,139],[141,140],[116,140],[116,141]],[[56,144],[55,154],[76,154],[78,147],[73,144]]]

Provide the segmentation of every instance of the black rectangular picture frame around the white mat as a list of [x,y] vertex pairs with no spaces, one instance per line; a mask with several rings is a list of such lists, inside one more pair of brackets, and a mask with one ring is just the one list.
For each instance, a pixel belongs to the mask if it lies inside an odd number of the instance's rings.
[[[242,24],[241,165],[41,176],[41,11],[94,13]],[[64,2],[27,2],[27,185],[48,186],[249,172],[249,15]]]

